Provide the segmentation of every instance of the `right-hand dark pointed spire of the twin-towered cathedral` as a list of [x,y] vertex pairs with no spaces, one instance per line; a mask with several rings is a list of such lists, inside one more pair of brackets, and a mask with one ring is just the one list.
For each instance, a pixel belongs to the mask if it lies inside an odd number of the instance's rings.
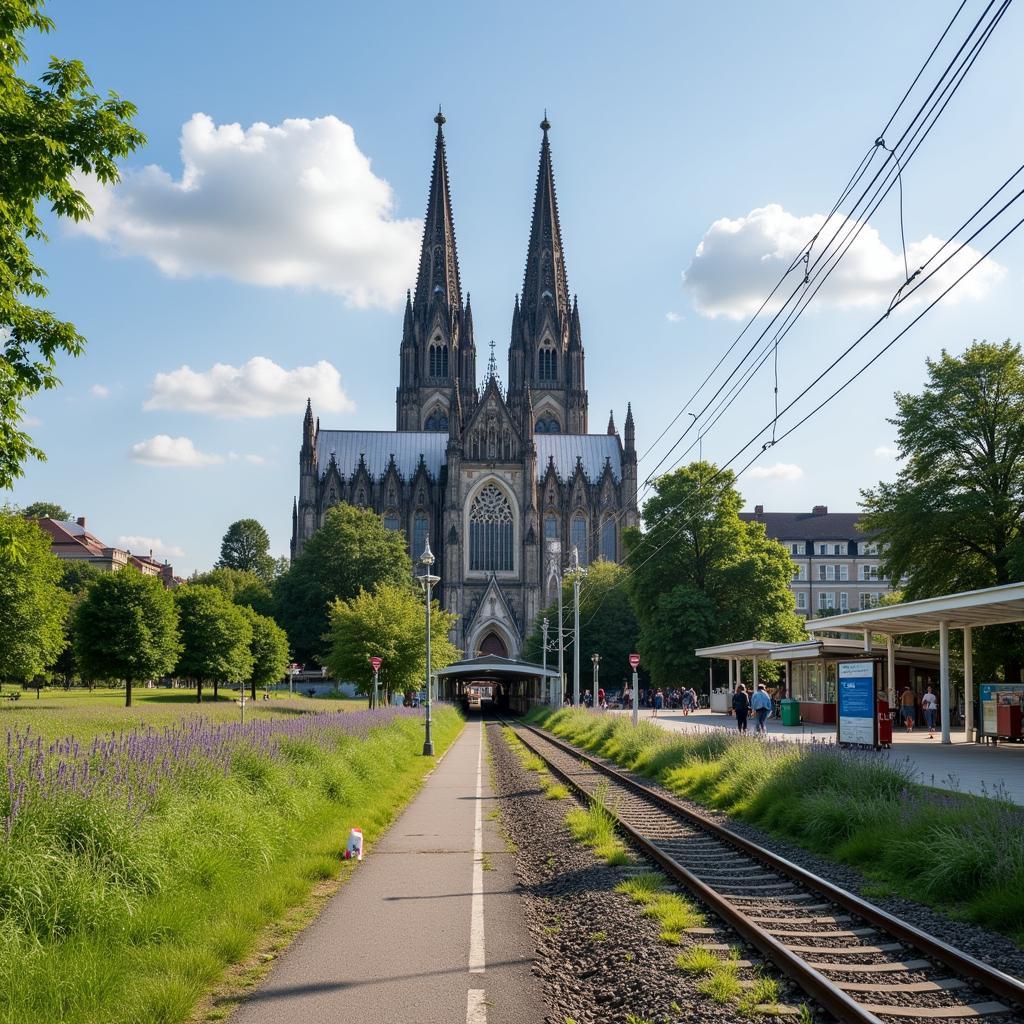
[[562,253],[562,231],[558,223],[555,175],[551,166],[551,144],[547,112],[541,122],[541,164],[537,172],[534,219],[529,228],[526,271],[522,285],[522,312],[537,330],[541,316],[550,306],[559,327],[568,316],[568,283]]

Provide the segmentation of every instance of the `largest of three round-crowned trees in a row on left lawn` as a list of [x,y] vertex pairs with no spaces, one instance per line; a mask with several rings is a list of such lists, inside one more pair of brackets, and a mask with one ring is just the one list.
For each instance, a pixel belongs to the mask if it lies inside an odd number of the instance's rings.
[[89,584],[75,609],[74,634],[82,672],[90,679],[123,679],[126,708],[132,684],[170,674],[180,649],[170,591],[131,566]]

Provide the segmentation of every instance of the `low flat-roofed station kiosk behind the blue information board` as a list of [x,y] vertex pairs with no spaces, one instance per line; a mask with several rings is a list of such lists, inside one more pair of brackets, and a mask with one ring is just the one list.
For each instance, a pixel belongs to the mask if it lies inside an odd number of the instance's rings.
[[[908,647],[872,643],[864,647],[861,640],[813,637],[799,643],[771,643],[767,640],[742,640],[737,643],[719,644],[715,647],[698,647],[697,657],[709,658],[709,680],[711,686],[711,710],[728,714],[732,707],[732,694],[742,676],[742,663],[752,663],[748,680],[757,687],[760,667],[764,662],[783,666],[781,678],[769,689],[777,698],[788,697],[800,701],[800,718],[804,722],[831,724],[836,721],[836,680],[840,662],[871,660],[874,663],[876,691],[886,695],[892,708],[895,694],[909,686],[919,701],[928,685],[938,688],[939,654],[928,647]],[[714,662],[728,663],[727,684],[714,686]],[[893,666],[893,676],[897,689],[887,693],[889,665]]]

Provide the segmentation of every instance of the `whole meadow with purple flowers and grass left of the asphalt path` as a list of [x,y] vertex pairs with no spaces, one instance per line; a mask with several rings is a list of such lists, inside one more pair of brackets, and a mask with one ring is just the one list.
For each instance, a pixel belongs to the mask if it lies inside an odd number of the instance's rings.
[[[174,695],[3,708],[0,1020],[188,1020],[434,764],[421,712],[276,699],[243,726],[232,700]],[[461,727],[436,710],[438,754]]]

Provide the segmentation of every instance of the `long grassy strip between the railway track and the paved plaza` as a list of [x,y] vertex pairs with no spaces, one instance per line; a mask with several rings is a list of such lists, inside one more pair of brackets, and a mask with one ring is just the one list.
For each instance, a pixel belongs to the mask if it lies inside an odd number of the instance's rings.
[[[1024,809],[915,783],[906,763],[834,744],[678,733],[573,710],[529,721],[705,806],[859,868],[876,892],[920,900],[1024,944]],[[964,879],[971,879],[965,886]]]

